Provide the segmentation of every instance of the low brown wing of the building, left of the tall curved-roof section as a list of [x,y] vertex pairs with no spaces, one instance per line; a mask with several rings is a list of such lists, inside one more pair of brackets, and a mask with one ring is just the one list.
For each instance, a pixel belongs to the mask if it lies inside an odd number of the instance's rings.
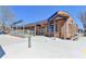
[[48,22],[46,20],[27,24],[25,29],[34,30],[35,35],[48,35]]

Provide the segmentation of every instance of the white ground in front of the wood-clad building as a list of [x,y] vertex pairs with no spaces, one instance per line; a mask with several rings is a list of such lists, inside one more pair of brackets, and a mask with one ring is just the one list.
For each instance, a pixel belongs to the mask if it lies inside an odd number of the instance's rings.
[[28,38],[0,35],[0,44],[5,51],[4,59],[86,57],[86,37],[83,36],[75,41],[32,36],[32,48],[28,48]]

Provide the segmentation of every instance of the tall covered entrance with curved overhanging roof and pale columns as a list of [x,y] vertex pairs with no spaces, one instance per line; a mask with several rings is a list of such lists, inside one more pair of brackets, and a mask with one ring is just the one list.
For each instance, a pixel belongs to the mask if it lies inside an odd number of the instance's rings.
[[49,36],[66,38],[66,21],[70,17],[64,12],[57,12],[49,17]]

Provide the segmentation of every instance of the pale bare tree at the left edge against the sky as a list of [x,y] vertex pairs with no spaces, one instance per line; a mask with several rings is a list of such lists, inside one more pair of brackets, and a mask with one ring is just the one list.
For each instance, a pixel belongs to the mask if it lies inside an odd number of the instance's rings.
[[3,29],[7,29],[7,27],[10,27],[11,23],[14,20],[14,14],[10,10],[10,7],[1,5],[0,7],[0,17],[2,18],[2,27]]

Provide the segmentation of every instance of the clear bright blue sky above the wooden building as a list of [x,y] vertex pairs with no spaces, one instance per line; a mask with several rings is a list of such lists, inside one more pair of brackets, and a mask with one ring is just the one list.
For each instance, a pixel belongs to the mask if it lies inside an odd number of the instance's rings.
[[86,11],[84,5],[11,5],[10,9],[15,15],[14,21],[23,20],[24,24],[47,20],[57,11],[66,11],[79,28],[83,28],[83,24],[78,20],[78,15]]

